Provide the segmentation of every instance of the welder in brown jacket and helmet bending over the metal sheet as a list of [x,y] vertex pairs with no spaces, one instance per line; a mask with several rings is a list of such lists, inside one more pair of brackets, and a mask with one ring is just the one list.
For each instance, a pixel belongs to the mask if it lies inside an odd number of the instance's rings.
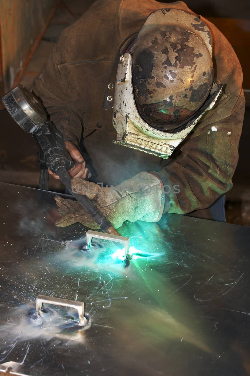
[[[224,35],[185,3],[95,1],[63,30],[32,89],[64,135],[73,189],[115,228],[165,213],[225,221],[242,70]],[[98,228],[77,201],[56,201],[57,226]]]

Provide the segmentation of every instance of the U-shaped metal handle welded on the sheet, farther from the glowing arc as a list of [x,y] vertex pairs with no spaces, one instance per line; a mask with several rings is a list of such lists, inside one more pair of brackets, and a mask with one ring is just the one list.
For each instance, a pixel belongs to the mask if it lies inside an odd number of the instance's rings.
[[38,315],[41,314],[43,303],[75,308],[79,314],[79,323],[80,324],[86,323],[86,318],[84,317],[84,303],[83,302],[77,302],[75,300],[68,300],[68,299],[59,299],[59,298],[54,298],[54,297],[45,296],[45,295],[38,295],[38,297],[36,298],[36,314]]

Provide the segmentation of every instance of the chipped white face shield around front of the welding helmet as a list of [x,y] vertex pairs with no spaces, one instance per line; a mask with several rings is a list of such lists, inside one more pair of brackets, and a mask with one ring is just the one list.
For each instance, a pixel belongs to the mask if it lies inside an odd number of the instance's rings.
[[179,132],[168,133],[155,129],[141,118],[136,108],[132,85],[132,55],[125,53],[120,58],[115,83],[113,125],[117,131],[117,139],[113,142],[167,159],[202,115],[212,109],[222,86],[220,83],[213,83],[206,102]]

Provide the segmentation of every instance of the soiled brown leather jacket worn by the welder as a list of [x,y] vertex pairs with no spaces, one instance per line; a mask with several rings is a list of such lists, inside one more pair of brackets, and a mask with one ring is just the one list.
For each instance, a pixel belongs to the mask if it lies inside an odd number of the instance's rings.
[[[162,160],[113,144],[116,131],[112,109],[102,109],[108,84],[115,84],[112,69],[118,67],[115,59],[124,52],[124,41],[138,33],[152,11],[161,8],[194,14],[181,1],[95,1],[79,20],[63,30],[41,79],[35,80],[32,89],[65,140],[78,146],[83,135],[91,168],[98,174],[96,182],[116,185],[140,171],[155,171],[164,185],[171,187],[166,189],[164,212],[195,211],[196,217],[212,219],[204,209],[232,188],[245,105],[241,66],[224,35],[197,16],[211,30],[214,79],[223,83],[223,92],[171,158]],[[174,185],[179,185],[180,193],[176,194]]]

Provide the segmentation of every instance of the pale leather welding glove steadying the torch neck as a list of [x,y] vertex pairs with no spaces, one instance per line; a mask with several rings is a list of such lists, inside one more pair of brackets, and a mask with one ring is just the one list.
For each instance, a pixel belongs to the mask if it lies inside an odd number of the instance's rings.
[[[141,172],[115,187],[106,188],[74,178],[71,180],[71,187],[75,193],[88,196],[115,228],[126,220],[156,222],[161,219],[164,208],[163,184],[152,173]],[[56,196],[55,200],[58,212],[62,215],[56,221],[56,226],[64,227],[80,222],[93,230],[100,228],[77,201],[60,196]]]

